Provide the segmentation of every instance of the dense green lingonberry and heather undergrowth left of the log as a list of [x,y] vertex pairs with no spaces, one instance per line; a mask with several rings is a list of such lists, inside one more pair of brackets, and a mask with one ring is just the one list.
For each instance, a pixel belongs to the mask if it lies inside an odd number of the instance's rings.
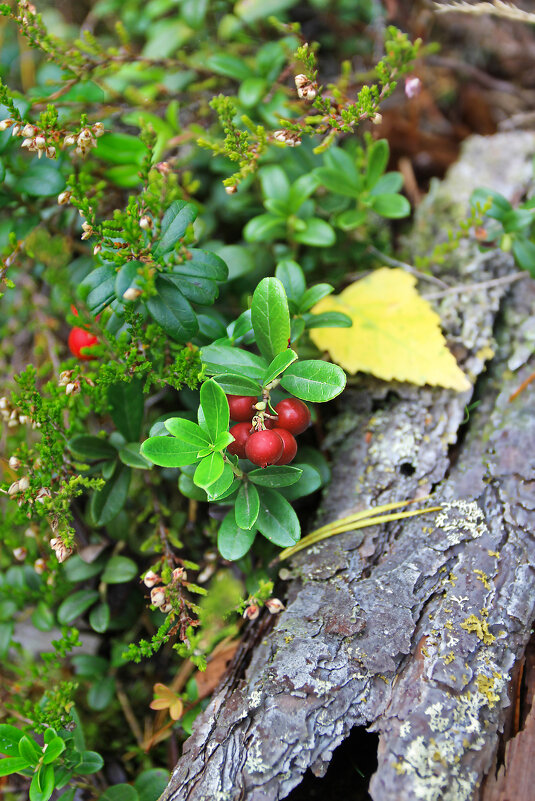
[[329,481],[345,377],[309,332],[351,320],[315,306],[409,211],[386,142],[336,137],[420,43],[323,86],[293,5],[109,0],[79,38],[0,5],[0,775],[30,801],[155,801]]

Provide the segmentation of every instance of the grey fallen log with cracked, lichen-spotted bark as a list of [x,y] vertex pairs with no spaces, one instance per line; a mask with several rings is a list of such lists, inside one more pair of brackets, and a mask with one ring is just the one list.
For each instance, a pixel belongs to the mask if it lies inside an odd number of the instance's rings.
[[[412,253],[456,230],[476,186],[518,199],[534,152],[529,133],[470,139],[419,208]],[[515,271],[465,241],[440,277]],[[535,369],[534,300],[527,276],[432,300],[474,392],[362,379],[343,395],[319,522],[430,492],[443,510],[293,559],[286,611],[271,630],[250,628],[256,647],[240,649],[162,799],[284,798],[307,768],[322,775],[357,725],[380,733],[374,801],[479,798],[535,616],[535,393],[509,402]]]

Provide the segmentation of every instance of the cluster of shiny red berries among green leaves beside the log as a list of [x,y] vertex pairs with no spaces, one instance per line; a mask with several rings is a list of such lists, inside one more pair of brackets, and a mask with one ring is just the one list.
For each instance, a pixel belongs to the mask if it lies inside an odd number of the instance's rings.
[[[277,417],[260,414],[258,399],[244,395],[227,395],[230,419],[239,421],[232,426],[234,437],[227,450],[249,459],[253,464],[267,467],[268,464],[290,464],[297,453],[295,436],[302,434],[310,423],[310,409],[298,398],[285,398],[275,406]],[[253,418],[261,422],[257,428]],[[253,422],[251,422],[253,421]]]

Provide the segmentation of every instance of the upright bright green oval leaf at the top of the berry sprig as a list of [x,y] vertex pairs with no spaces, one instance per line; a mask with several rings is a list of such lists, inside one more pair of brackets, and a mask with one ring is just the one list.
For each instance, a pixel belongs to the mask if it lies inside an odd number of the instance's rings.
[[290,314],[286,292],[278,278],[263,278],[256,287],[251,322],[258,349],[269,362],[288,348]]

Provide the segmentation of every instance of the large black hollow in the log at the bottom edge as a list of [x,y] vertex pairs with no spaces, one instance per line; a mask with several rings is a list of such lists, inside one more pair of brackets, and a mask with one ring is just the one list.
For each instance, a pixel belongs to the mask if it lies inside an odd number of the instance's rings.
[[287,796],[287,801],[326,801],[347,798],[371,801],[368,785],[377,770],[379,735],[356,726],[338,746],[327,773],[322,778],[307,770],[301,784]]

